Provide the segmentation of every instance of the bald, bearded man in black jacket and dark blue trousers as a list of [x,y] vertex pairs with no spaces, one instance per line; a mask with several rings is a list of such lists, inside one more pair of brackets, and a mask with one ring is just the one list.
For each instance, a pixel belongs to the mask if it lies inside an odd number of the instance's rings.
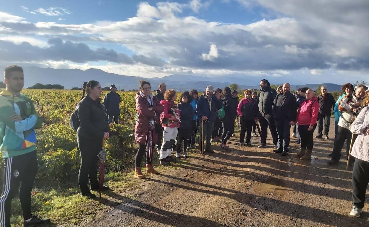
[[275,97],[272,107],[278,133],[278,148],[273,152],[282,153],[283,156],[287,155],[291,125],[296,121],[296,97],[291,94],[290,88],[289,83],[283,84],[282,92]]

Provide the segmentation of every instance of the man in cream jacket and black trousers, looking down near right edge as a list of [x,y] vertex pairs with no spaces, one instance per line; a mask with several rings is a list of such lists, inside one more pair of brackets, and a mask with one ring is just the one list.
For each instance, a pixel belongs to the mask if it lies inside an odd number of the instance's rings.
[[[363,102],[366,89],[368,88],[365,85],[356,86],[354,93],[344,96],[338,104],[338,109],[342,112],[342,115],[339,117],[338,121],[338,130],[334,139],[332,158],[327,162],[330,165],[338,164],[341,158],[341,149],[345,141],[347,144],[346,153],[347,156],[349,156],[351,142],[353,143],[356,137],[356,135],[352,135],[349,127],[354,121],[355,116],[359,113],[360,109],[358,108]],[[354,136],[354,138],[351,136]]]

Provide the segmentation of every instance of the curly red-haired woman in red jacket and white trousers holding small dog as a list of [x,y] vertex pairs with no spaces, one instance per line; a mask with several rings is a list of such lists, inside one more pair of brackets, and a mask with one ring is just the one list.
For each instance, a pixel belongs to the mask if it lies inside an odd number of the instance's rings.
[[161,100],[161,104],[164,107],[164,111],[160,115],[160,120],[162,126],[164,127],[163,131],[163,143],[160,150],[160,164],[163,166],[170,165],[170,162],[174,162],[176,160],[175,157],[172,157],[170,154],[172,152],[172,146],[176,140],[180,122],[180,113],[178,106],[175,103],[177,99],[177,94],[173,89],[170,89],[164,94],[165,100]]

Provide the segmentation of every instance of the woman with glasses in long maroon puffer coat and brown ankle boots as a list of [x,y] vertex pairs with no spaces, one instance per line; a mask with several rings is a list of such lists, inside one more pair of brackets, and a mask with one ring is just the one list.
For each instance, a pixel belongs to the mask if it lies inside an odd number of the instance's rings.
[[[146,176],[141,172],[142,156],[149,145],[151,147],[152,157],[152,145],[158,141],[158,134],[155,130],[155,124],[160,124],[159,116],[163,112],[164,107],[159,103],[151,93],[151,85],[147,81],[140,81],[139,92],[136,95],[136,125],[135,125],[135,141],[139,144],[138,151],[135,157],[135,174],[137,178],[145,178]],[[151,166],[149,149],[146,151],[146,174],[157,174]]]

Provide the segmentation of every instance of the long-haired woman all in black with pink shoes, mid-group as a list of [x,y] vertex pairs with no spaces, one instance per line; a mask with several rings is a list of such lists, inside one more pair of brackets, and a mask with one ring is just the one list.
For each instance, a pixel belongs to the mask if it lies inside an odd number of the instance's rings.
[[234,121],[236,120],[237,116],[237,100],[232,95],[231,89],[229,87],[225,87],[221,98],[223,99],[223,106],[224,106],[224,118],[222,119],[223,124],[223,134],[222,134],[222,143],[221,148],[228,149],[226,145],[229,138],[231,138],[232,134],[234,133]]

